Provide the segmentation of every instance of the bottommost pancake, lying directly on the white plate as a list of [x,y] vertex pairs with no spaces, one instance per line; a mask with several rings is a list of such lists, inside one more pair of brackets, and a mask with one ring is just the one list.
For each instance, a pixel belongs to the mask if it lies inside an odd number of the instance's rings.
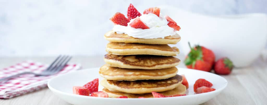
[[[120,96],[127,96],[128,98],[138,98],[138,97],[153,98],[153,95],[151,93],[146,93],[146,94],[119,93],[119,92],[109,91],[107,88],[104,88],[102,91],[107,93],[108,97],[111,97],[111,98],[117,98]],[[185,92],[186,92],[186,87],[183,84],[180,84],[177,88],[174,88],[168,91],[162,91],[159,93],[170,96],[170,95],[184,94]]]

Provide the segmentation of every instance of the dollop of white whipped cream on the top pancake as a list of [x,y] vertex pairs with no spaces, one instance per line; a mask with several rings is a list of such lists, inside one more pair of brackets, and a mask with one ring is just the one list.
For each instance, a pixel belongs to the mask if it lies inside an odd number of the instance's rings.
[[113,32],[118,34],[125,33],[128,34],[128,36],[143,39],[164,38],[176,34],[176,31],[167,25],[168,21],[162,14],[160,14],[159,17],[152,13],[143,14],[139,18],[149,29],[132,28],[129,24],[131,24],[134,19],[131,19],[128,26],[114,25]]

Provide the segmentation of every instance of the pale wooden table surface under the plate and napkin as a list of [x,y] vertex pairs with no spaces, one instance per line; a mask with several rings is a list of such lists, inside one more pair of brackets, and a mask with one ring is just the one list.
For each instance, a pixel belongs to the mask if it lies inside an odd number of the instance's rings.
[[[183,61],[182,56],[177,56]],[[6,57],[0,58],[0,68],[13,65],[25,60],[33,60],[50,64],[55,57]],[[103,56],[74,56],[71,63],[80,63],[83,68],[100,67],[104,64]],[[178,67],[185,67],[181,63]],[[245,68],[234,68],[230,75],[223,76],[228,86],[217,97],[203,105],[267,105],[267,62],[257,59],[252,65]],[[58,98],[48,88],[32,93],[0,99],[0,105],[62,105],[69,103]]]

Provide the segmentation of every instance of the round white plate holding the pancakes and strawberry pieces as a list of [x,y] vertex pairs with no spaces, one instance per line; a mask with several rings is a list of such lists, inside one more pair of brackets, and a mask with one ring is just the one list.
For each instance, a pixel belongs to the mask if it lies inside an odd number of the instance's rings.
[[[99,76],[99,68],[83,69],[76,72],[71,72],[63,74],[52,78],[48,82],[48,87],[54,94],[56,94],[61,99],[68,103],[75,105],[100,105],[100,104],[115,104],[115,105],[147,105],[147,104],[169,104],[169,105],[192,105],[201,104],[207,102],[208,100],[214,98],[216,95],[221,93],[221,91],[227,86],[227,81],[225,78],[218,76],[213,73],[203,72],[187,68],[178,68],[178,74],[185,74],[187,81],[189,83],[189,89],[186,91],[186,96],[180,97],[169,97],[169,98],[128,98],[128,99],[118,99],[118,98],[99,98],[99,97],[89,97],[83,95],[72,94],[73,86],[83,86],[89,81],[95,78],[102,80],[103,78]],[[211,83],[213,83],[212,88],[215,91],[208,93],[195,94],[193,91],[193,85],[195,81],[199,78],[204,78]],[[99,91],[103,89],[103,86],[99,85]]]

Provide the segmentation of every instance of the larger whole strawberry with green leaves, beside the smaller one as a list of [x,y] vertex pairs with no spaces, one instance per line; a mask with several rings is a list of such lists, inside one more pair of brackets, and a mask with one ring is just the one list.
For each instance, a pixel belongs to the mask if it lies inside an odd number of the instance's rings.
[[184,60],[186,67],[209,72],[215,60],[213,51],[199,45],[192,48],[190,43],[188,44],[191,51]]

